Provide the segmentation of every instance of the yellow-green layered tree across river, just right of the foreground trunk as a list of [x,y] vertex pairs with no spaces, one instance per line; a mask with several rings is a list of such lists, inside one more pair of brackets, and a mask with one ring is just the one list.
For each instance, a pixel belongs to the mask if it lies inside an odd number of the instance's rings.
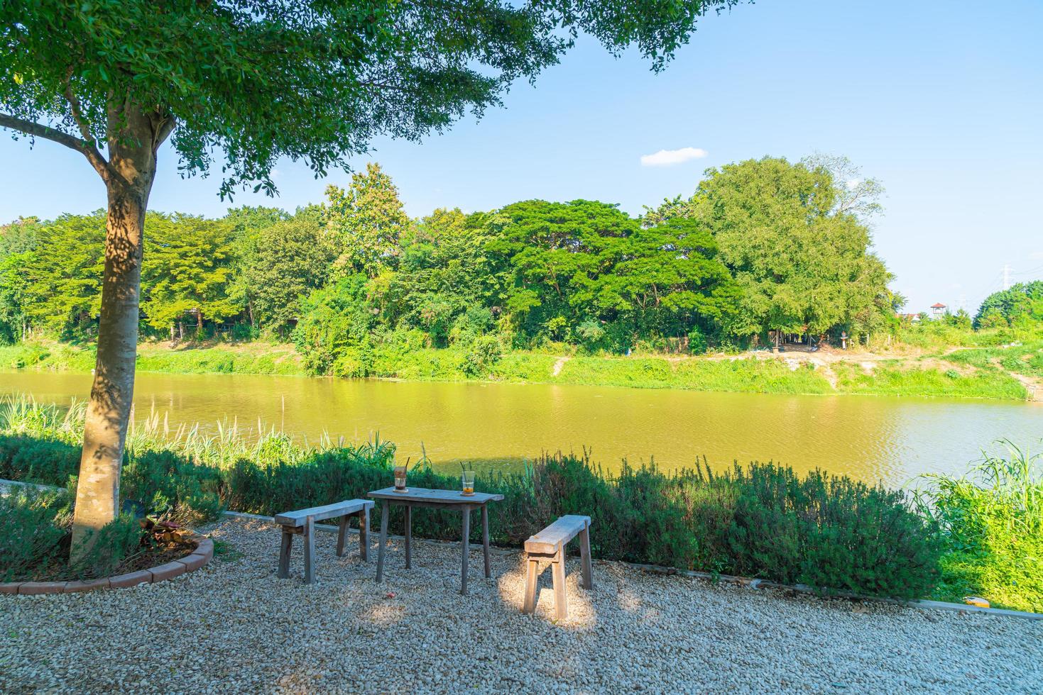
[[242,311],[228,298],[232,228],[223,220],[150,213],[145,221],[148,256],[142,267],[142,308],[155,328],[179,327],[193,317],[197,336],[203,321],[221,322]]

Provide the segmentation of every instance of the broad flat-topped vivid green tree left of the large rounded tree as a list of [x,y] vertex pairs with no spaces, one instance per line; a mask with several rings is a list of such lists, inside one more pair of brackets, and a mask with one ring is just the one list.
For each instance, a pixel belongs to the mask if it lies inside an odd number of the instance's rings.
[[512,273],[504,305],[525,336],[622,350],[640,337],[733,328],[737,288],[695,221],[642,228],[615,205],[534,200],[488,224],[488,248]]

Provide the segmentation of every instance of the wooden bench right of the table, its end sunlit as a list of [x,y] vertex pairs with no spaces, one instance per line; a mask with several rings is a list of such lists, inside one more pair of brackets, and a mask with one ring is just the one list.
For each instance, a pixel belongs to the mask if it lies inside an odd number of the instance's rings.
[[565,546],[577,536],[580,537],[580,559],[583,561],[583,588],[593,587],[593,571],[590,567],[590,517],[577,515],[561,517],[525,542],[528,571],[523,613],[536,611],[539,562],[550,560],[554,575],[554,609],[558,620],[568,617],[568,602],[565,599]]

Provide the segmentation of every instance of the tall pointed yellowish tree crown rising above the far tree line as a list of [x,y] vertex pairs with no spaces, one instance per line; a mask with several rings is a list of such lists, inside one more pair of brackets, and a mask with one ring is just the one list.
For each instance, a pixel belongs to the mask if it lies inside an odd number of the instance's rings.
[[347,191],[326,187],[323,222],[338,252],[338,273],[375,277],[382,269],[395,266],[398,239],[410,220],[391,177],[370,163],[365,174],[351,176]]

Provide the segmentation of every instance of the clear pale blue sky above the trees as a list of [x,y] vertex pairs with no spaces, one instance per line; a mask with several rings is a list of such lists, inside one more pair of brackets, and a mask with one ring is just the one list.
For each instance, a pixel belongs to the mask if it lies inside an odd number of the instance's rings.
[[[845,154],[887,188],[876,251],[908,311],[942,301],[973,311],[1011,280],[1043,278],[1043,2],[762,0],[707,18],[658,75],[582,40],[506,108],[420,144],[374,152],[411,215],[489,209],[528,198],[591,198],[639,214],[688,195],[702,171],[766,154]],[[696,148],[669,167],[641,155]],[[161,154],[153,209],[217,216],[218,179],[183,180]],[[101,207],[104,190],[78,154],[0,136],[0,221]],[[317,202],[316,180],[281,163],[274,201]]]

